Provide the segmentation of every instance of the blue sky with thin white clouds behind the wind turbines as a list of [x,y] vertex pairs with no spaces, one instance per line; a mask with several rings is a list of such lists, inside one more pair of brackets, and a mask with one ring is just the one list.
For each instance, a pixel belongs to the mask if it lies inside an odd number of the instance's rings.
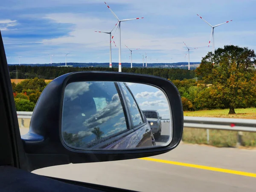
[[[212,25],[233,20],[215,28],[215,48],[225,44],[256,48],[255,0],[108,0],[119,19],[145,17],[122,23],[122,62],[182,62],[186,47],[198,47],[190,61],[201,58],[208,48]],[[103,0],[8,0],[0,7],[0,30],[9,64],[65,61],[109,62],[109,36],[94,31],[110,31],[116,24]],[[115,34],[118,44],[118,35]],[[113,62],[118,48],[113,47]],[[172,60],[171,60],[172,58]],[[151,59],[151,60],[150,60]]]

